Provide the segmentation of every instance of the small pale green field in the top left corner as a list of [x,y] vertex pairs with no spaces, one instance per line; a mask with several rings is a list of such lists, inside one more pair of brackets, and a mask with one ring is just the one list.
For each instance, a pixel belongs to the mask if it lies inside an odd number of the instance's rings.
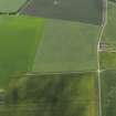
[[27,0],[0,0],[0,12],[15,12]]

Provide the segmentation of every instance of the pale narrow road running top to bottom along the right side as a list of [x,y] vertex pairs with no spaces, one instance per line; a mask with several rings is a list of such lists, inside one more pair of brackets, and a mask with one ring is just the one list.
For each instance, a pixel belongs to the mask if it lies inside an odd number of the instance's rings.
[[103,24],[101,29],[101,33],[98,36],[98,44],[97,44],[97,74],[98,74],[98,97],[99,97],[99,104],[98,104],[98,116],[103,116],[103,110],[102,110],[102,83],[101,83],[101,63],[99,63],[99,44],[102,41],[102,36],[105,30],[105,27],[107,24],[107,0],[103,0]]

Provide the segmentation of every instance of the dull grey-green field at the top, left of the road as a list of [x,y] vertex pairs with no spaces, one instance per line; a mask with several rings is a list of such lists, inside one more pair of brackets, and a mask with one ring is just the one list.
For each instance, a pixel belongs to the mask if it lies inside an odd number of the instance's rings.
[[102,0],[32,0],[21,14],[102,23]]

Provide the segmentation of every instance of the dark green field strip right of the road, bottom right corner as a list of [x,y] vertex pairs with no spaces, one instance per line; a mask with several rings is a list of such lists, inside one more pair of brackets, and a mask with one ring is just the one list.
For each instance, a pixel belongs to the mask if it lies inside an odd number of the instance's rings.
[[102,73],[103,116],[116,116],[116,71]]

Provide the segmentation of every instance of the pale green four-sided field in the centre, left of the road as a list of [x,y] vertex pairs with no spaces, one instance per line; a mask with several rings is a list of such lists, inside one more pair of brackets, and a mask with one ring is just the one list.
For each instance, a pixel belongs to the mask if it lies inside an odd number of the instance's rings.
[[43,34],[33,71],[97,70],[98,25],[48,20]]

